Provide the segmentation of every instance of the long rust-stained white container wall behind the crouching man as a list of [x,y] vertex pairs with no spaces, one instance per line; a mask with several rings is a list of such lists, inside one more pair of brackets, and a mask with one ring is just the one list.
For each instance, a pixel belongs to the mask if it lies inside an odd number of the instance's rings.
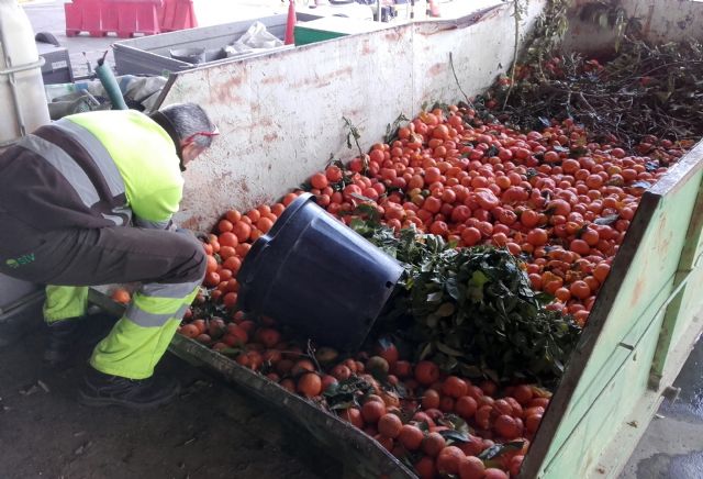
[[[544,4],[529,2],[523,34]],[[186,172],[177,221],[210,229],[232,207],[275,202],[331,155],[349,159],[354,152],[346,147],[343,115],[358,127],[368,149],[399,114],[414,115],[423,103],[461,100],[461,90],[482,91],[510,67],[512,12],[501,4],[457,20],[406,24],[172,75],[164,104],[198,102],[222,132]]]

